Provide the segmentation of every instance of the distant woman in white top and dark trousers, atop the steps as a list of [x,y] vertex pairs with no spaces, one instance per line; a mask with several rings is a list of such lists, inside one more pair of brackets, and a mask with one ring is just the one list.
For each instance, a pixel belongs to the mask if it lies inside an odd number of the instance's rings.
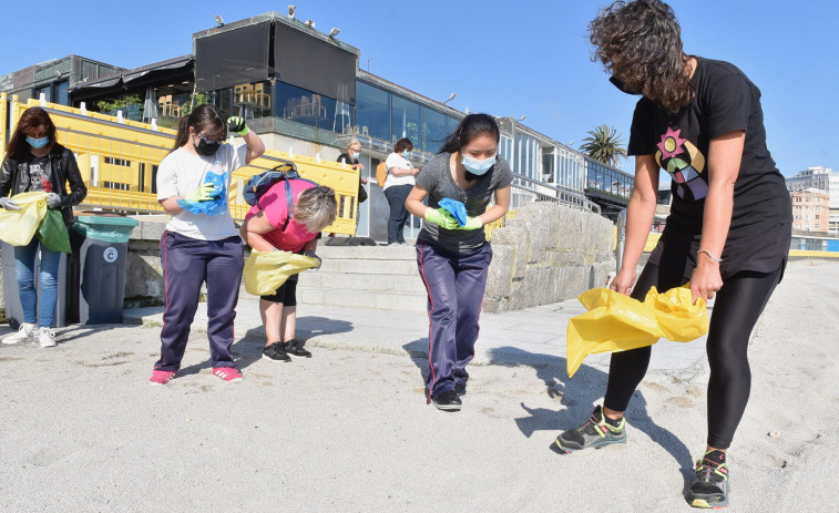
[[413,167],[408,158],[413,151],[413,143],[408,137],[402,137],[393,145],[393,153],[388,155],[385,161],[385,167],[388,170],[388,177],[385,181],[385,197],[390,204],[390,215],[388,216],[388,246],[405,245],[405,234],[402,230],[408,222],[408,211],[405,208],[405,201],[413,188],[416,183],[415,176],[419,170]]

